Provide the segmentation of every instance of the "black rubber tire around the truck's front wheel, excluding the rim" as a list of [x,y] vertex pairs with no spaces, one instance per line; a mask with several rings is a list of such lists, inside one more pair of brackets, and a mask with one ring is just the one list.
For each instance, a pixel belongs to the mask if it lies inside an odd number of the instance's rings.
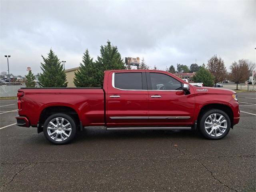
[[[220,114],[222,115],[225,120],[226,120],[226,126],[227,128],[225,129],[225,131],[223,132],[222,135],[220,136],[212,136],[210,135],[206,129],[205,129],[205,121],[206,119],[211,115],[211,114]],[[230,123],[230,118],[229,116],[222,110],[218,110],[218,109],[212,109],[212,110],[208,110],[206,112],[204,112],[204,114],[200,117],[200,119],[198,120],[199,121],[199,131],[202,133],[202,135],[207,138],[207,139],[211,139],[211,140],[217,140],[217,139],[222,139],[224,138],[228,132],[230,131],[230,126],[231,126],[231,123]],[[223,131],[223,130],[222,130]],[[210,131],[209,131],[210,132]],[[213,131],[214,132],[214,131]],[[219,130],[217,130],[216,132],[219,132]],[[219,132],[219,134],[221,134]]]

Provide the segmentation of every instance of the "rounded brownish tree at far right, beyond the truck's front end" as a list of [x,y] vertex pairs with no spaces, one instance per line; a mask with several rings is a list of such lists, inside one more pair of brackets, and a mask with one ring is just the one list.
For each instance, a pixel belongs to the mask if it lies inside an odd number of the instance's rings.
[[[250,66],[249,66],[250,65]],[[240,59],[238,62],[233,62],[230,66],[230,78],[236,83],[236,89],[238,89],[238,83],[245,82],[250,76],[251,64],[248,60]]]

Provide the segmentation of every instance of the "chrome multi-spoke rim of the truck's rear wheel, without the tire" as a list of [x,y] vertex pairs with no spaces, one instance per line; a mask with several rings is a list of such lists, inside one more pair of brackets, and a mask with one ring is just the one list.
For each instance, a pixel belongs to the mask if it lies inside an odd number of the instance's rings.
[[51,120],[47,126],[47,133],[55,141],[66,140],[72,132],[71,124],[62,117]]

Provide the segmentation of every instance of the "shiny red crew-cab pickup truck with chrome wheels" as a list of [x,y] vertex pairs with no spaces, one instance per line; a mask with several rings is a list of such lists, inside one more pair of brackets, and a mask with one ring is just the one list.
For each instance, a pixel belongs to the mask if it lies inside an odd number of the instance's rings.
[[159,70],[110,70],[102,88],[21,88],[17,125],[37,127],[54,144],[86,126],[106,130],[198,129],[226,136],[239,122],[236,92],[196,87]]

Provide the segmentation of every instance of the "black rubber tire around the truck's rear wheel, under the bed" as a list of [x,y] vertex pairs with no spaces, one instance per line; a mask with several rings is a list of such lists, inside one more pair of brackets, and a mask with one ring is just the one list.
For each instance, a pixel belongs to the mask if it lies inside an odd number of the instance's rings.
[[[54,131],[58,131],[56,127],[52,126],[54,130],[48,130],[48,124],[51,121],[54,121],[56,118],[60,118],[59,120],[65,119],[64,122],[66,122],[66,124],[64,125],[64,127],[70,123],[70,125],[68,125],[68,130],[65,130],[65,133],[67,135],[69,135],[68,137],[66,137],[62,132],[60,132],[60,134],[53,134],[53,136],[57,135],[56,140],[54,140],[51,136],[49,136],[48,132],[52,133]],[[71,128],[71,130],[70,130]],[[67,114],[62,114],[62,113],[57,113],[57,114],[53,114],[51,116],[49,116],[46,121],[44,122],[44,136],[46,137],[46,139],[48,139],[50,142],[54,143],[54,144],[58,144],[58,145],[62,145],[62,144],[67,144],[70,141],[72,141],[74,139],[74,136],[76,135],[76,123],[74,121],[74,119],[72,118],[72,116],[69,116]],[[71,132],[70,132],[70,131]],[[64,131],[64,129],[63,129]],[[59,138],[60,137],[60,138]],[[64,139],[63,139],[64,138]],[[63,140],[62,140],[63,139]]]

